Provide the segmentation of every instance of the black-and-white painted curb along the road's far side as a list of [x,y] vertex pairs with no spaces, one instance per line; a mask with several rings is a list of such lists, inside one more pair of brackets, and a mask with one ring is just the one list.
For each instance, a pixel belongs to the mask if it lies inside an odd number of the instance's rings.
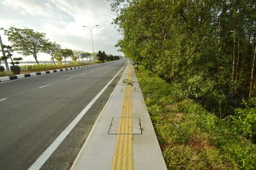
[[4,76],[4,77],[0,77],[0,82],[13,81],[13,80],[16,80],[16,79],[23,79],[23,78],[26,78],[26,77],[34,77],[34,76],[37,76],[37,75],[44,75],[44,74],[47,74],[47,73],[64,72],[64,71],[67,71],[67,70],[75,70],[77,68],[84,68],[84,67],[95,66],[95,65],[97,65],[97,64],[85,65],[85,66],[75,66],[75,67],[62,68],[62,69],[57,69],[57,70],[48,70],[48,71],[44,71],[44,72],[25,73],[25,74]]

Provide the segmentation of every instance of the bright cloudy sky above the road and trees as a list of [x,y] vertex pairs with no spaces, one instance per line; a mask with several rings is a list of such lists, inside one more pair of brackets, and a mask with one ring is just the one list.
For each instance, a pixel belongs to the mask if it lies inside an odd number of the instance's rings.
[[[94,51],[123,55],[114,47],[122,36],[111,24],[116,15],[109,4],[107,0],[0,0],[0,27],[29,27],[46,33],[49,40],[63,48],[92,52],[90,29],[82,26],[99,24],[92,31]],[[0,33],[3,43],[10,44],[3,31]],[[40,54],[38,60],[50,58]],[[28,56],[24,61],[34,59]]]

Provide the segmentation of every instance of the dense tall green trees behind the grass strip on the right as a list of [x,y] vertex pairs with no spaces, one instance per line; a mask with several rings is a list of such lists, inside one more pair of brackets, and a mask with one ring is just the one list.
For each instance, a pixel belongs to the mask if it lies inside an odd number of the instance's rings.
[[125,56],[179,86],[181,96],[221,117],[255,96],[256,1],[116,0],[112,8]]

